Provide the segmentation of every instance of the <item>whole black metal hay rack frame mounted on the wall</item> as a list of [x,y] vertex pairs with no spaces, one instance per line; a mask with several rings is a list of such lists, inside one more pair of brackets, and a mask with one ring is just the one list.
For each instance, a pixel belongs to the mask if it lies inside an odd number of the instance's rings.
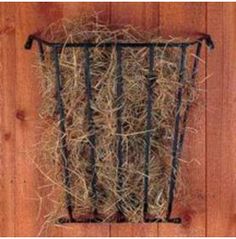
[[[55,64],[55,84],[56,84],[56,98],[57,98],[57,110],[60,117],[60,132],[61,132],[61,158],[63,164],[63,174],[64,174],[64,185],[66,187],[66,205],[68,211],[68,218],[59,219],[59,223],[66,222],[101,222],[102,217],[99,215],[97,210],[97,172],[96,172],[96,155],[95,155],[95,147],[96,147],[96,134],[95,134],[95,124],[93,120],[93,109],[91,107],[91,101],[93,99],[92,95],[92,86],[91,86],[91,54],[90,49],[94,47],[103,47],[103,48],[111,48],[115,47],[116,49],[116,58],[117,58],[117,77],[116,77],[116,104],[117,104],[117,193],[122,196],[122,188],[123,188],[123,149],[122,149],[122,112],[123,112],[123,77],[122,77],[122,49],[123,48],[141,48],[146,47],[149,49],[148,52],[148,62],[149,62],[149,74],[147,76],[147,116],[146,116],[146,134],[145,134],[145,145],[144,145],[144,199],[143,199],[143,218],[145,222],[170,222],[170,223],[181,223],[180,218],[171,217],[173,201],[174,201],[174,191],[176,185],[176,177],[178,172],[178,165],[184,135],[185,135],[185,127],[186,122],[190,110],[190,103],[187,103],[186,110],[181,119],[180,117],[180,107],[182,103],[182,95],[183,89],[179,87],[177,92],[177,100],[176,100],[176,116],[175,116],[175,129],[174,129],[174,139],[172,144],[172,170],[171,175],[169,177],[169,191],[168,191],[168,205],[167,205],[167,213],[164,218],[157,218],[148,215],[148,187],[149,187],[149,158],[150,158],[150,141],[152,133],[150,129],[152,128],[152,103],[153,103],[153,83],[158,79],[158,76],[154,73],[154,49],[155,47],[165,47],[165,48],[179,48],[181,50],[180,55],[180,65],[179,65],[179,82],[185,82],[185,66],[186,66],[186,52],[188,47],[196,45],[196,57],[193,62],[191,83],[195,84],[195,78],[198,71],[198,63],[200,52],[202,48],[202,43],[205,41],[206,45],[210,48],[214,48],[214,44],[209,35],[203,34],[195,41],[191,42],[169,42],[169,43],[101,43],[101,44],[93,44],[93,43],[51,43],[45,41],[36,35],[30,35],[26,41],[25,49],[31,49],[33,41],[38,43],[39,53],[41,60],[44,60],[44,45],[51,48],[52,59]],[[88,120],[88,132],[89,132],[89,142],[90,142],[90,153],[89,153],[89,162],[91,165],[91,200],[93,201],[94,210],[93,215],[87,218],[78,218],[73,215],[73,200],[69,193],[71,188],[71,178],[70,172],[68,170],[68,149],[66,143],[66,127],[65,127],[65,113],[64,113],[64,104],[61,96],[62,84],[61,84],[61,71],[60,71],[60,63],[59,63],[59,53],[62,48],[83,48],[84,49],[84,72],[85,72],[85,88],[87,95],[87,120]],[[182,85],[182,84],[180,84]],[[182,121],[182,131],[180,132],[180,123]],[[123,215],[123,203],[122,201],[117,202],[117,222],[126,222],[126,218]]]

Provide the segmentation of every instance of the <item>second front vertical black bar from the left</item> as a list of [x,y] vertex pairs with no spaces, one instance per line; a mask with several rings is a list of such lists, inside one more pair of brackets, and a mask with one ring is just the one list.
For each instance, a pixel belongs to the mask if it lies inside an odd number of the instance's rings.
[[90,72],[90,51],[88,47],[84,48],[84,56],[85,56],[85,87],[86,87],[86,95],[87,95],[87,119],[88,119],[88,132],[89,132],[89,144],[90,144],[90,155],[89,161],[91,166],[91,189],[92,189],[92,200],[94,204],[94,214],[97,214],[97,169],[96,169],[96,135],[95,135],[95,124],[93,120],[93,109],[91,107],[91,102],[93,100],[92,95],[92,84],[91,84],[91,72]]

